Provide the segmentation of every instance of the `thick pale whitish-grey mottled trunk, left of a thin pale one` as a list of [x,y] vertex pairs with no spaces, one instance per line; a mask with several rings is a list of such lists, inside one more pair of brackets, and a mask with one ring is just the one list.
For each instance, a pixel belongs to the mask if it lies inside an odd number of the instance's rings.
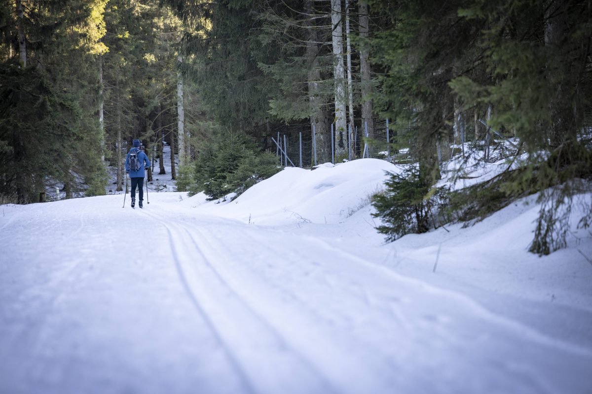
[[347,154],[347,119],[345,109],[345,67],[343,66],[343,29],[341,0],[331,0],[331,25],[333,37],[333,79],[335,97],[335,156]]

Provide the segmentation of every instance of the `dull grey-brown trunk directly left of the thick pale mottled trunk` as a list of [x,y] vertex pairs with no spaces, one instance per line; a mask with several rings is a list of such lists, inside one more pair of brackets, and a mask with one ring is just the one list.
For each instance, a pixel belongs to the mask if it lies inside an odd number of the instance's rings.
[[[310,105],[310,129],[314,127],[317,148],[317,161],[328,162],[331,160],[331,137],[327,129],[327,112],[320,97],[318,82],[321,80],[321,71],[318,67],[318,35],[317,28],[313,24],[314,11],[313,0],[304,0],[306,18],[304,24],[307,28],[306,57],[308,63],[308,103]],[[279,142],[279,141],[278,141]],[[314,155],[314,152],[313,152]],[[311,163],[314,159],[311,157]]]

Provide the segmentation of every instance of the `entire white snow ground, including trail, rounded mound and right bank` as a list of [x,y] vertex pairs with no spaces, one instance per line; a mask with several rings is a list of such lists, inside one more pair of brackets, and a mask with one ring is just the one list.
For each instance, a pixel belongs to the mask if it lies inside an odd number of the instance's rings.
[[385,244],[385,170],[0,206],[0,392],[592,392],[590,232],[528,253],[530,197]]

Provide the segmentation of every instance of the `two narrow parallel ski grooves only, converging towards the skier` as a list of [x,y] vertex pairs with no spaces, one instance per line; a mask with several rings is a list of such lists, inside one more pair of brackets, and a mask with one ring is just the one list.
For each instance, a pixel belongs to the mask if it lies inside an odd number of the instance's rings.
[[[319,370],[311,368],[310,366],[313,363],[311,363],[311,361],[308,360],[307,357],[305,357],[294,346],[289,346],[286,338],[273,325],[271,325],[268,320],[266,320],[264,317],[262,317],[262,315],[260,315],[257,311],[255,311],[253,309],[253,307],[251,305],[249,305],[249,303],[234,290],[234,288],[226,281],[226,279],[224,279],[224,277],[221,275],[221,273],[214,267],[214,265],[210,262],[210,260],[205,256],[204,252],[201,250],[200,246],[198,245],[198,243],[194,239],[194,235],[192,235],[191,232],[189,232],[189,230],[186,229],[185,226],[188,223],[175,223],[175,224],[171,225],[171,222],[179,222],[179,220],[172,219],[172,218],[166,217],[166,216],[160,216],[159,214],[155,214],[155,213],[149,212],[147,210],[143,210],[143,213],[146,214],[146,216],[149,216],[152,219],[156,220],[156,222],[158,222],[163,227],[165,227],[165,229],[168,233],[168,236],[169,236],[170,248],[172,250],[172,253],[173,253],[173,256],[175,259],[176,270],[178,272],[179,279],[181,280],[182,285],[184,286],[185,292],[188,294],[188,297],[191,299],[191,302],[194,305],[195,309],[197,310],[198,314],[200,314],[201,317],[204,318],[204,321],[207,323],[208,328],[210,328],[210,330],[214,334],[218,343],[220,343],[220,345],[223,347],[225,353],[229,357],[229,360],[230,360],[233,368],[239,374],[240,379],[244,383],[244,386],[245,386],[247,392],[258,393],[259,391],[255,388],[252,381],[249,379],[249,374],[246,372],[246,370],[242,366],[242,364],[239,360],[239,357],[237,357],[237,355],[231,350],[231,347],[229,346],[227,341],[224,340],[223,334],[220,333],[220,329],[217,327],[217,325],[215,324],[213,319],[208,315],[208,313],[201,306],[200,300],[198,299],[197,295],[195,295],[194,291],[192,291],[192,289],[191,289],[191,285],[189,284],[189,281],[187,279],[187,275],[185,272],[186,269],[183,267],[183,264],[181,262],[182,259],[178,253],[178,246],[175,244],[175,239],[181,239],[183,237],[181,234],[182,232],[184,232],[186,237],[189,240],[191,240],[191,243],[194,246],[194,248],[191,248],[191,249],[195,250],[195,252],[198,253],[198,255],[200,256],[201,261],[204,263],[204,265],[207,266],[207,268],[215,275],[215,277],[220,281],[220,284],[222,284],[227,289],[227,291],[229,291],[230,294],[233,295],[233,297],[236,299],[236,301],[238,301],[244,307],[244,310],[248,311],[249,314],[252,315],[252,317],[254,317],[260,324],[262,324],[263,326],[265,326],[267,328],[269,333],[271,333],[275,337],[276,342],[281,345],[282,349],[289,349],[289,353],[292,354],[295,357],[295,359],[297,359],[298,363],[301,366],[303,366],[309,372],[313,373],[313,375],[317,376],[318,381],[324,387],[322,392],[323,393],[340,392],[340,390],[335,388],[332,385],[332,383],[330,382],[330,380],[326,376],[324,376]],[[175,236],[175,235],[178,235],[178,236]]]

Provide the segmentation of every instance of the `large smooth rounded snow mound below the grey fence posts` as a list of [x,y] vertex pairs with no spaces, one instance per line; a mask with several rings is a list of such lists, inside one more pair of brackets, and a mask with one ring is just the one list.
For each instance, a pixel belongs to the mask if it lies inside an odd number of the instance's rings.
[[[382,190],[387,174],[399,167],[379,159],[320,165],[314,170],[288,167],[228,204],[200,204],[210,213],[247,223],[339,223]],[[195,196],[194,196],[195,197]]]

